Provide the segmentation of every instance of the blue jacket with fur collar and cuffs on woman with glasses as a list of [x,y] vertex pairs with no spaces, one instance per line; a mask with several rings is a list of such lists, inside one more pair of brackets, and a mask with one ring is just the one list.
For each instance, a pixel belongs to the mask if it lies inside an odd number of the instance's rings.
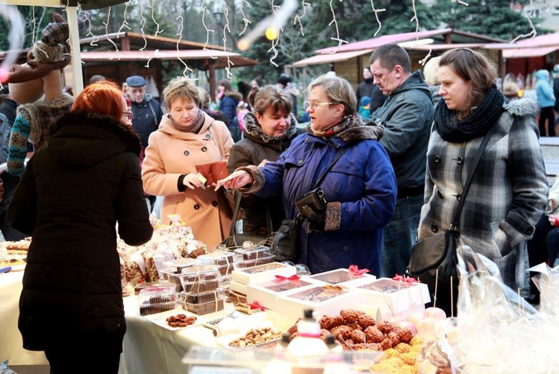
[[[377,141],[383,127],[365,126],[359,116],[348,120],[353,122],[348,129],[328,140],[310,134],[297,136],[277,162],[251,171],[264,177],[256,195],[282,195],[286,217],[293,219],[295,201],[311,191],[337,154],[349,147],[320,185],[329,202],[325,231],[308,232],[308,221],[302,222],[298,262],[309,266],[312,273],[357,264],[378,275],[381,228],[394,214],[396,177]],[[255,177],[257,181],[258,175]],[[257,185],[255,182],[254,188]]]

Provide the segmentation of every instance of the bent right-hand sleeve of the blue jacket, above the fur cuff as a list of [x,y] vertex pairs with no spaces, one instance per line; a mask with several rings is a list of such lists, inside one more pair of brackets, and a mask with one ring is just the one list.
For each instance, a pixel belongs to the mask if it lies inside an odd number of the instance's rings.
[[364,171],[365,196],[357,201],[342,203],[340,230],[380,229],[394,214],[397,195],[394,169],[386,151],[377,141],[366,143],[370,145],[367,145]]

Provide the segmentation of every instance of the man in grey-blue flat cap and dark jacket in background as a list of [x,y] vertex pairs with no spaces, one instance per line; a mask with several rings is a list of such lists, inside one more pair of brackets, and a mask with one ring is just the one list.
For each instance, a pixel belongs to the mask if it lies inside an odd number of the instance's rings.
[[126,95],[132,101],[132,127],[140,136],[141,146],[148,146],[149,134],[157,130],[163,111],[159,102],[145,93],[145,79],[139,75],[126,78]]

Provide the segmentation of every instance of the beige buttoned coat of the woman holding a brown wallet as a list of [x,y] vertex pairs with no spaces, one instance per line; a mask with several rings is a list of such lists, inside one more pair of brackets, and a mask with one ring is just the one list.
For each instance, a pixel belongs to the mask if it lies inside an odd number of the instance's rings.
[[194,237],[213,251],[229,235],[233,215],[224,193],[211,186],[178,191],[182,174],[196,173],[196,165],[229,158],[233,139],[227,126],[202,113],[205,120],[198,134],[175,129],[169,115],[163,116],[159,129],[149,136],[141,177],[146,193],[164,196],[163,223],[169,223],[168,214],[181,215]]

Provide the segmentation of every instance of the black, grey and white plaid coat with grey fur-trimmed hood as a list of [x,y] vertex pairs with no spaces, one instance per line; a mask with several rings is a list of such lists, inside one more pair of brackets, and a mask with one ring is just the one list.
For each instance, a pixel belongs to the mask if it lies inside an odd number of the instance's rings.
[[[537,104],[520,99],[504,107],[464,203],[459,244],[498,264],[506,285],[515,290],[517,256],[532,238],[549,187],[534,122]],[[432,132],[418,239],[451,225],[482,140],[448,143]]]

